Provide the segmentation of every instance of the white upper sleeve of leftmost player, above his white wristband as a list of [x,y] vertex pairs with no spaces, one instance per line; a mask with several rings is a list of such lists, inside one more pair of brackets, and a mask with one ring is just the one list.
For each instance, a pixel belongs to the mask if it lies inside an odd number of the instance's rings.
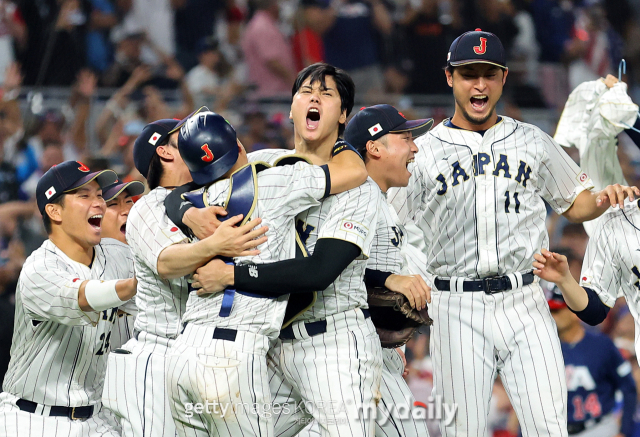
[[25,265],[18,280],[26,314],[33,320],[62,325],[92,325],[100,313],[84,312],[78,304],[78,290],[85,279],[64,268],[55,257]]

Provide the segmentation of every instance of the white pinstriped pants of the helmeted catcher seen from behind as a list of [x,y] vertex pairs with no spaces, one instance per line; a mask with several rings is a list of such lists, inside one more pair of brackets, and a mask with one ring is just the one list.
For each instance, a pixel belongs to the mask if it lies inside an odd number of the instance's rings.
[[273,437],[268,349],[264,335],[187,325],[166,374],[180,437]]

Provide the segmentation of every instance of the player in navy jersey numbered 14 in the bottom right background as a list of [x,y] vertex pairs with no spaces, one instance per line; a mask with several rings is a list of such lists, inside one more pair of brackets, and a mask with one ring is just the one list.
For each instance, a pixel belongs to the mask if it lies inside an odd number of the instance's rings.
[[[609,337],[585,331],[580,319],[567,308],[557,287],[547,294],[551,315],[558,327],[567,376],[569,435],[632,436],[637,392],[631,364],[622,358]],[[618,390],[623,394],[620,423],[613,413]]]

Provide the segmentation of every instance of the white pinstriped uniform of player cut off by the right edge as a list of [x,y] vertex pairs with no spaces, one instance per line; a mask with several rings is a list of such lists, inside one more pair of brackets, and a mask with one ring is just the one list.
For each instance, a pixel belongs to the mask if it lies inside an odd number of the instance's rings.
[[636,357],[640,360],[640,203],[602,216],[589,239],[580,285],[594,290],[613,307],[624,296],[636,322]]

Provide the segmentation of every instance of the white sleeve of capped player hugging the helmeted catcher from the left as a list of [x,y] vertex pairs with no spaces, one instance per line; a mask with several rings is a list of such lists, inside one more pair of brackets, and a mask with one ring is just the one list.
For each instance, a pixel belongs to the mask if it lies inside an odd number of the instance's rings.
[[160,253],[173,244],[188,242],[188,238],[160,208],[164,208],[163,203],[157,208],[146,203],[140,206],[137,214],[129,215],[127,241],[134,255],[149,266],[155,275],[160,276]]

